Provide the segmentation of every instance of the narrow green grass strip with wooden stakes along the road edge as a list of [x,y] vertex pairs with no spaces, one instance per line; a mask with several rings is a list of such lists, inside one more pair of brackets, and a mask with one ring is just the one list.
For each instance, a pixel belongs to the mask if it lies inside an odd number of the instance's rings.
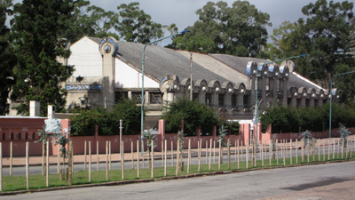
[[[352,154],[353,156],[344,157],[343,159],[337,158],[335,154],[335,159],[333,155],[330,155],[330,160],[323,161],[323,155],[320,156],[320,162],[328,162],[328,161],[340,161],[340,160],[349,160],[354,158],[355,152]],[[345,155],[344,155],[345,156]],[[301,163],[302,157],[298,156],[298,165],[300,164],[309,164],[307,156],[304,159],[304,163]],[[296,165],[296,156],[292,157],[292,163],[290,164],[290,158],[286,158],[286,166]],[[310,156],[310,164],[319,163],[318,155],[315,156],[313,161],[313,156]],[[259,169],[259,168],[267,168],[267,167],[275,167],[275,166],[283,166],[283,158],[279,157],[279,165],[277,165],[277,160],[272,159],[272,164],[270,165],[270,160],[264,160],[264,166],[262,166],[262,161],[257,160],[256,166],[248,161],[248,169]],[[228,170],[228,164],[221,164],[221,170],[218,170],[218,164],[211,164],[211,170],[209,171],[209,164],[201,164],[200,172],[198,172],[198,165],[190,165],[190,173],[203,173],[203,172],[223,172]],[[238,164],[231,163],[230,171],[238,171],[238,170],[247,170],[246,162],[240,162],[240,169],[238,169]],[[105,182],[114,182],[122,180],[121,170],[112,170],[108,172],[108,181],[106,180],[106,171],[92,171],[91,172],[91,183],[89,183],[89,172],[81,171],[81,172],[74,172],[73,173],[73,185],[85,185],[85,184],[95,184],[95,183],[105,183]],[[167,167],[167,177],[175,177],[176,175],[176,166],[175,167]],[[184,171],[178,172],[178,175],[188,175],[187,173],[187,166],[184,167]],[[164,168],[156,167],[154,168],[154,178],[163,178],[164,176]],[[124,170],[124,180],[138,180],[137,179],[137,170],[135,169],[126,169]],[[68,186],[67,180],[59,180],[59,174],[50,174],[49,176],[49,188],[58,188],[63,186]],[[140,180],[142,179],[151,179],[151,171],[150,169],[140,169]],[[30,175],[29,176],[29,186],[31,190],[33,189],[41,189],[47,188],[45,184],[45,176],[41,174],[38,175]],[[26,188],[26,176],[3,176],[3,192],[10,192],[10,191],[21,191],[27,190]]]

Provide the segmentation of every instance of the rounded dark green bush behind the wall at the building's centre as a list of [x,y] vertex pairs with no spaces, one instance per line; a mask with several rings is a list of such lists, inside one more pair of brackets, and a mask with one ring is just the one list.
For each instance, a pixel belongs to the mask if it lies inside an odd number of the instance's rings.
[[178,132],[181,130],[181,121],[184,120],[186,135],[193,136],[197,127],[201,127],[202,135],[211,135],[213,125],[218,124],[217,115],[212,108],[196,101],[177,100],[172,102],[168,109],[162,116],[166,121],[166,132]]

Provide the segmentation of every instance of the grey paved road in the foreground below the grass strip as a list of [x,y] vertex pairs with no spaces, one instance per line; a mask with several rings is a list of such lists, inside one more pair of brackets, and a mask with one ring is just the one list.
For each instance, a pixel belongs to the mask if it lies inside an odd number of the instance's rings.
[[125,186],[75,188],[6,199],[353,199],[355,162],[240,172]]

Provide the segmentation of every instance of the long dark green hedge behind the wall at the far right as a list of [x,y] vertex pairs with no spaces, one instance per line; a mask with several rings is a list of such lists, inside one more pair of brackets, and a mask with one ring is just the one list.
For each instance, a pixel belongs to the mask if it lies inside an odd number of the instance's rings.
[[[315,108],[275,107],[266,108],[260,115],[262,131],[272,124],[272,132],[324,132],[329,127],[329,104]],[[332,104],[332,128],[339,123],[355,126],[355,112],[350,107]]]

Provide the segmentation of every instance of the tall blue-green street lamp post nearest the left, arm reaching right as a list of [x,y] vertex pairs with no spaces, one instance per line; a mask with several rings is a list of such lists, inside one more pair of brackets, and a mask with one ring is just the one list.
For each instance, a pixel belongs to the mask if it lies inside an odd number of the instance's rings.
[[171,36],[165,36],[165,37],[162,37],[158,40],[155,40],[154,42],[151,42],[151,43],[148,43],[144,46],[143,48],[143,55],[142,55],[142,96],[141,96],[141,108],[140,108],[140,141],[141,141],[141,155],[143,156],[143,150],[144,150],[144,146],[143,146],[143,132],[144,132],[144,127],[143,127],[143,123],[144,123],[144,101],[145,101],[145,95],[144,95],[144,61],[145,61],[145,51],[146,51],[146,46],[149,45],[149,44],[154,44],[156,42],[159,42],[159,41],[162,41],[164,39],[167,39],[167,38],[170,38],[172,36],[179,36],[179,35],[184,35],[185,33],[187,32],[190,32],[189,30],[183,30],[182,32],[180,33],[177,33],[177,34],[174,34],[174,35],[171,35]]

